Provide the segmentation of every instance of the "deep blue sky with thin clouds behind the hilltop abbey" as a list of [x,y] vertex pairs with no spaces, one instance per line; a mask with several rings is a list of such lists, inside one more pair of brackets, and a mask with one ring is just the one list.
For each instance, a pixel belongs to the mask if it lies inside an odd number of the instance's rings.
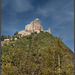
[[74,51],[74,0],[1,0],[1,34],[13,35],[39,18],[44,30],[62,34],[63,42]]

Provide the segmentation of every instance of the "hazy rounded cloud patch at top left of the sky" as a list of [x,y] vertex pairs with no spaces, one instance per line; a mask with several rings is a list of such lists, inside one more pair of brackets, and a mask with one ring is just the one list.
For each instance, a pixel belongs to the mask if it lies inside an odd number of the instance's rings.
[[24,12],[32,10],[33,6],[31,4],[31,0],[14,0],[12,1],[11,8],[15,12]]

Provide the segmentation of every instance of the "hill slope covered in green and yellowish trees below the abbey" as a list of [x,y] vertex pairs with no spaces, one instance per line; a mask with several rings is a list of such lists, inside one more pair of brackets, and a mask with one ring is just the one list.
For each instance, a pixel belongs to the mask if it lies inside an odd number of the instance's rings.
[[1,75],[74,74],[74,53],[59,39],[41,32],[1,47]]

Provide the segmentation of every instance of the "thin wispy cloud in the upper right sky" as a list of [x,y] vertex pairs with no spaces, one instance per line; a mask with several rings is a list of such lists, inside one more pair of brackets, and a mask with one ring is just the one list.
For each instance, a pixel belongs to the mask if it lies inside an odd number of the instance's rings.
[[[62,3],[63,2],[63,3]],[[64,5],[63,5],[64,4]],[[52,17],[53,20],[67,20],[74,16],[73,3],[65,1],[48,1],[44,6],[37,9],[38,14],[45,17]]]

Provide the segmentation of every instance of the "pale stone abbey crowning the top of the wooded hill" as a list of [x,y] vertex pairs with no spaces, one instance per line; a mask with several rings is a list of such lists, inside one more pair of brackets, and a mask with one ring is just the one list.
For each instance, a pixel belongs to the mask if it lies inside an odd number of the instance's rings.
[[[36,18],[30,24],[27,24],[25,26],[25,30],[19,31],[18,34],[21,34],[21,37],[22,37],[22,36],[30,35],[33,32],[40,33],[40,31],[44,31],[44,30],[43,30],[43,27],[41,26],[40,20]],[[50,28],[44,32],[49,32],[51,34]]]

